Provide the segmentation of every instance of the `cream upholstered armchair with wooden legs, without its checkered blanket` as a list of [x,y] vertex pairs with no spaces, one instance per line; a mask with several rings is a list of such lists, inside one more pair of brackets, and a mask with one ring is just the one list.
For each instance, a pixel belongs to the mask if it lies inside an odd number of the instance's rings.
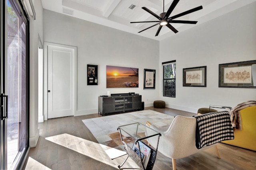
[[[195,117],[185,117],[178,115],[174,117],[171,125],[161,128],[152,125],[148,121],[146,122],[146,125],[161,133],[162,136],[159,139],[158,151],[165,156],[172,158],[172,167],[174,170],[176,170],[176,159],[190,156],[196,152],[199,152],[200,150],[205,150],[210,147],[216,147],[218,158],[220,158],[220,154],[216,145],[210,145],[202,149],[196,148]],[[148,143],[152,147],[155,147],[157,141],[150,139],[151,138],[148,138]]]

